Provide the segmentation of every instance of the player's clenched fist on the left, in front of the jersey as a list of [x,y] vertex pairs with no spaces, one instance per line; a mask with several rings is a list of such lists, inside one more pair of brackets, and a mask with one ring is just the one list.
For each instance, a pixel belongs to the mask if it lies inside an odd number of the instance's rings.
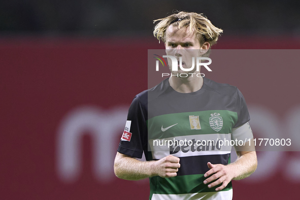
[[154,171],[156,176],[163,178],[177,176],[178,168],[180,168],[179,158],[168,155],[154,162]]

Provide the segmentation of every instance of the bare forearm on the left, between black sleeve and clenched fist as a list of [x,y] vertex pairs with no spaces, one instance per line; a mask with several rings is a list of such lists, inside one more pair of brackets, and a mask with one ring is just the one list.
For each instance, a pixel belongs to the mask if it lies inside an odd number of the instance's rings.
[[153,161],[140,161],[131,157],[116,158],[114,164],[115,175],[125,180],[141,180],[153,173]]

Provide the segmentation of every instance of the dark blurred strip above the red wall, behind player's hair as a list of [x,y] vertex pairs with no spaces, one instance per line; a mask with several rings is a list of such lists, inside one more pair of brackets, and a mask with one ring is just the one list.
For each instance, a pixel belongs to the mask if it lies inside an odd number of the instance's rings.
[[1,1],[5,36],[151,37],[154,19],[173,11],[204,13],[225,35],[297,37],[300,2],[268,1]]

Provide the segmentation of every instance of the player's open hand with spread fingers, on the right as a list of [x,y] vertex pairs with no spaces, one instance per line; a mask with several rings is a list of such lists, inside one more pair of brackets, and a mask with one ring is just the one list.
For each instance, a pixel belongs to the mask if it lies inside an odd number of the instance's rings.
[[204,180],[204,184],[208,184],[209,188],[222,184],[216,188],[216,191],[220,191],[234,178],[234,169],[231,168],[231,165],[212,164],[210,162],[207,165],[210,170],[204,174],[204,177],[212,176]]

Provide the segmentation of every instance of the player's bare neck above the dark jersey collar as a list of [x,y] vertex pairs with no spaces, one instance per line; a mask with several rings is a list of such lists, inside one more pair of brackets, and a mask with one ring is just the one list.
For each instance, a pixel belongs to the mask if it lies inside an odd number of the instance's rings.
[[188,77],[188,78],[169,78],[170,86],[177,92],[190,93],[198,91],[202,88],[203,78],[202,77]]

